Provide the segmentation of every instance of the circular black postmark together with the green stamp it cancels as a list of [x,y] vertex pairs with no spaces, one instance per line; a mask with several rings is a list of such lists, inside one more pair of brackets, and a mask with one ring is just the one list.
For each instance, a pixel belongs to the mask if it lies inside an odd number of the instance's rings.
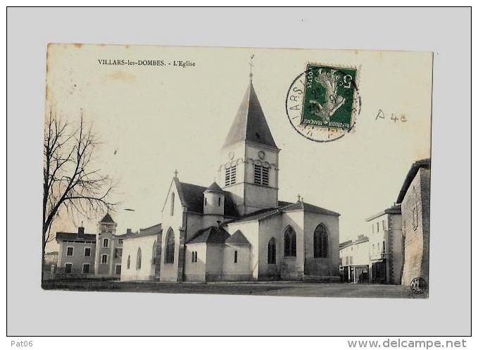
[[285,107],[292,127],[315,142],[353,132],[362,106],[357,80],[356,68],[309,63],[287,91]]

